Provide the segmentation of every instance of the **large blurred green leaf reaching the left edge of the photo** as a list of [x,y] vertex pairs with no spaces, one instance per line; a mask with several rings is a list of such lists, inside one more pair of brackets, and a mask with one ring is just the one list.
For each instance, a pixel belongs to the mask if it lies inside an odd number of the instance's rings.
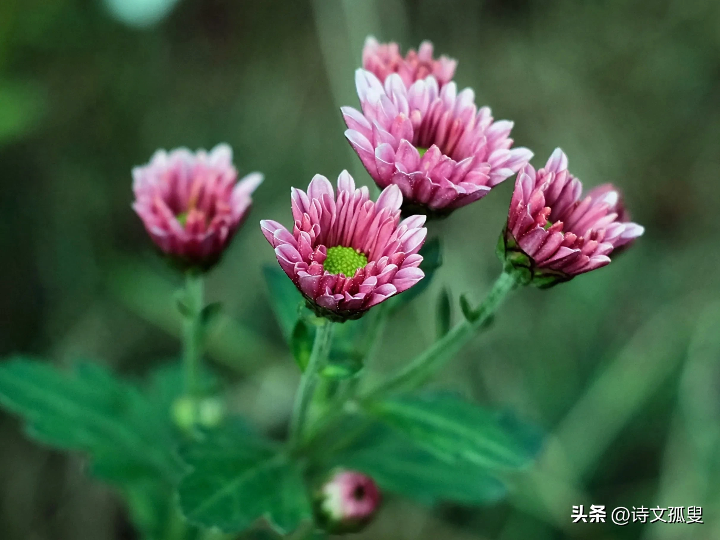
[[174,452],[168,410],[98,364],[62,372],[17,357],[0,365],[0,403],[21,415],[27,433],[44,444],[89,454],[99,477],[120,484],[184,472]]

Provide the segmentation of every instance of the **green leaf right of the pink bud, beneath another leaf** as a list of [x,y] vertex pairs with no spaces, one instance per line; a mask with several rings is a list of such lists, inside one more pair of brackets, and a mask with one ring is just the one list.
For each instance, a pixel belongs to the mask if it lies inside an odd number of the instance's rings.
[[336,464],[371,476],[382,490],[432,505],[441,501],[482,504],[500,500],[506,489],[483,467],[449,464],[400,433],[374,425]]

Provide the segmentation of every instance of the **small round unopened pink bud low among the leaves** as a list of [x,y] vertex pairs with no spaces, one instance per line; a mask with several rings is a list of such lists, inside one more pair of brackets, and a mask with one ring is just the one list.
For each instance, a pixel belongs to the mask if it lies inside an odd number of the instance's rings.
[[318,494],[319,521],[330,533],[358,532],[377,512],[382,500],[372,478],[338,470]]

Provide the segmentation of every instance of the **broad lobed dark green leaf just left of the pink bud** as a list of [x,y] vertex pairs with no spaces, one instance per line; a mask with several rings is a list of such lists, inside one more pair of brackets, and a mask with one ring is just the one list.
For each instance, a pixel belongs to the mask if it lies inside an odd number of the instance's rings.
[[312,516],[297,464],[240,423],[208,433],[181,456],[193,471],[180,483],[180,507],[193,523],[238,532],[265,517],[287,534]]

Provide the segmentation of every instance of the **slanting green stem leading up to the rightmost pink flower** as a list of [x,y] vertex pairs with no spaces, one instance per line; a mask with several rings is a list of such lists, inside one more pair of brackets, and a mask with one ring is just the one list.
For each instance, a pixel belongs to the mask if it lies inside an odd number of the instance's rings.
[[477,330],[482,328],[488,318],[495,313],[503,302],[508,292],[517,286],[517,281],[512,274],[503,272],[492,285],[480,307],[477,308],[477,318],[472,323],[463,319],[446,333],[445,336],[433,343],[430,348],[416,356],[413,361],[386,379],[384,382],[370,388],[361,395],[363,400],[369,400],[400,390],[412,390],[426,382],[446,361],[451,359],[472,339]]

